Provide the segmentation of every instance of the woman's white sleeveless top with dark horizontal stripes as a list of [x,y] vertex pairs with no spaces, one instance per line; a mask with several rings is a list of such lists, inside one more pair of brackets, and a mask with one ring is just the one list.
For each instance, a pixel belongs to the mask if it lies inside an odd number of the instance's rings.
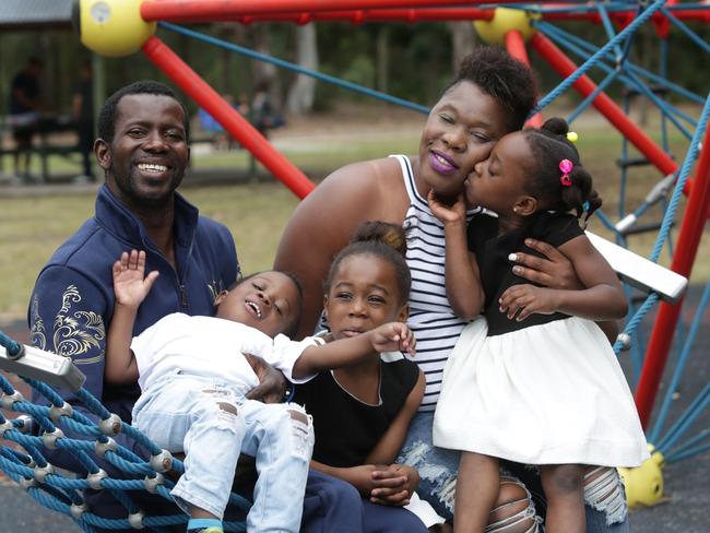
[[[412,271],[407,325],[416,335],[416,357],[413,360],[426,376],[419,411],[434,411],[441,390],[443,367],[466,321],[453,313],[446,296],[443,224],[417,192],[410,159],[405,155],[391,157],[400,162],[410,197],[410,209],[403,224],[407,241],[406,263]],[[476,212],[469,211],[466,222]]]

